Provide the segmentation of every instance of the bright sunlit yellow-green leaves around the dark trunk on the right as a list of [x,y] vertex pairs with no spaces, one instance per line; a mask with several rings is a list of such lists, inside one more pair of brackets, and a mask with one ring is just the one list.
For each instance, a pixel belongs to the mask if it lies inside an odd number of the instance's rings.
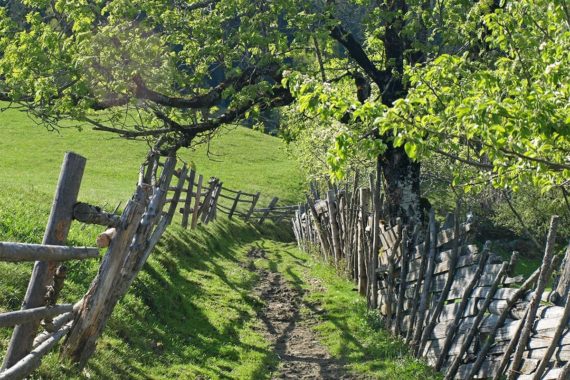
[[[392,143],[415,160],[434,154],[452,158],[455,183],[467,190],[488,180],[514,189],[524,182],[543,190],[567,185],[569,14],[565,1],[482,1],[448,18],[451,32],[431,22],[432,33],[421,47],[426,62],[408,58],[408,93],[392,105],[378,97],[347,104],[314,79],[300,80],[304,85],[293,89],[301,107],[320,115],[338,117],[354,108],[354,122],[374,125],[383,136],[368,149],[382,153]],[[438,43],[445,40],[451,43]],[[368,42],[368,48],[375,46]],[[341,158],[355,149],[367,149],[358,130],[338,136],[333,148]],[[479,175],[462,176],[465,164],[478,168]]]

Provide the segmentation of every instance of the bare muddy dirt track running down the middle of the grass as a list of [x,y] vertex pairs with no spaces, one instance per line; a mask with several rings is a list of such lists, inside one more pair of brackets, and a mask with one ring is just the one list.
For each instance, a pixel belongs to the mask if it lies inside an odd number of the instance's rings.
[[[265,252],[252,249],[249,257],[264,258]],[[266,303],[266,307],[259,313],[259,318],[263,321],[261,332],[273,344],[280,359],[272,378],[358,378],[350,375],[340,361],[331,358],[326,348],[318,342],[311,329],[317,323],[315,314],[301,314],[301,307],[305,305],[303,290],[287,284],[279,273],[255,269],[253,262],[249,267],[260,274],[256,292]]]

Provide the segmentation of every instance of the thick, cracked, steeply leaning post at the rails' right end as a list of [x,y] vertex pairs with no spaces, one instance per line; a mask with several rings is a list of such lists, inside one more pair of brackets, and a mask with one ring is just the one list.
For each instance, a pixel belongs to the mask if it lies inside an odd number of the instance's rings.
[[[176,159],[169,157],[157,186],[140,184],[121,215],[99,273],[83,297],[63,353],[83,367],[115,305],[125,295],[167,226],[162,215]],[[151,190],[154,192],[151,194]],[[149,199],[150,197],[150,199]],[[162,219],[161,219],[162,217]]]

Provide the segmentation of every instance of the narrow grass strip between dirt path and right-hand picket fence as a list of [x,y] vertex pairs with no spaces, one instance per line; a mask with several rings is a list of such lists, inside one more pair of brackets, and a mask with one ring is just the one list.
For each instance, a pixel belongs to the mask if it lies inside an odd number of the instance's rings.
[[403,341],[383,331],[377,313],[367,310],[354,284],[339,277],[330,265],[314,260],[296,245],[267,239],[256,244],[268,258],[256,260],[256,266],[283,273],[290,284],[307,291],[308,304],[320,309],[316,330],[321,342],[352,371],[375,379],[443,378],[413,358]]

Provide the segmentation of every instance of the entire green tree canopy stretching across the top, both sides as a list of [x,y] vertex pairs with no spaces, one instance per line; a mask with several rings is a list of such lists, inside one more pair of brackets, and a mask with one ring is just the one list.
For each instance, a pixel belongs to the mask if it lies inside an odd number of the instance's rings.
[[338,175],[354,155],[403,148],[451,159],[466,189],[567,184],[565,0],[6,4],[0,99],[48,126],[90,122],[177,149],[294,96],[317,118],[297,127],[347,125],[329,149]]

